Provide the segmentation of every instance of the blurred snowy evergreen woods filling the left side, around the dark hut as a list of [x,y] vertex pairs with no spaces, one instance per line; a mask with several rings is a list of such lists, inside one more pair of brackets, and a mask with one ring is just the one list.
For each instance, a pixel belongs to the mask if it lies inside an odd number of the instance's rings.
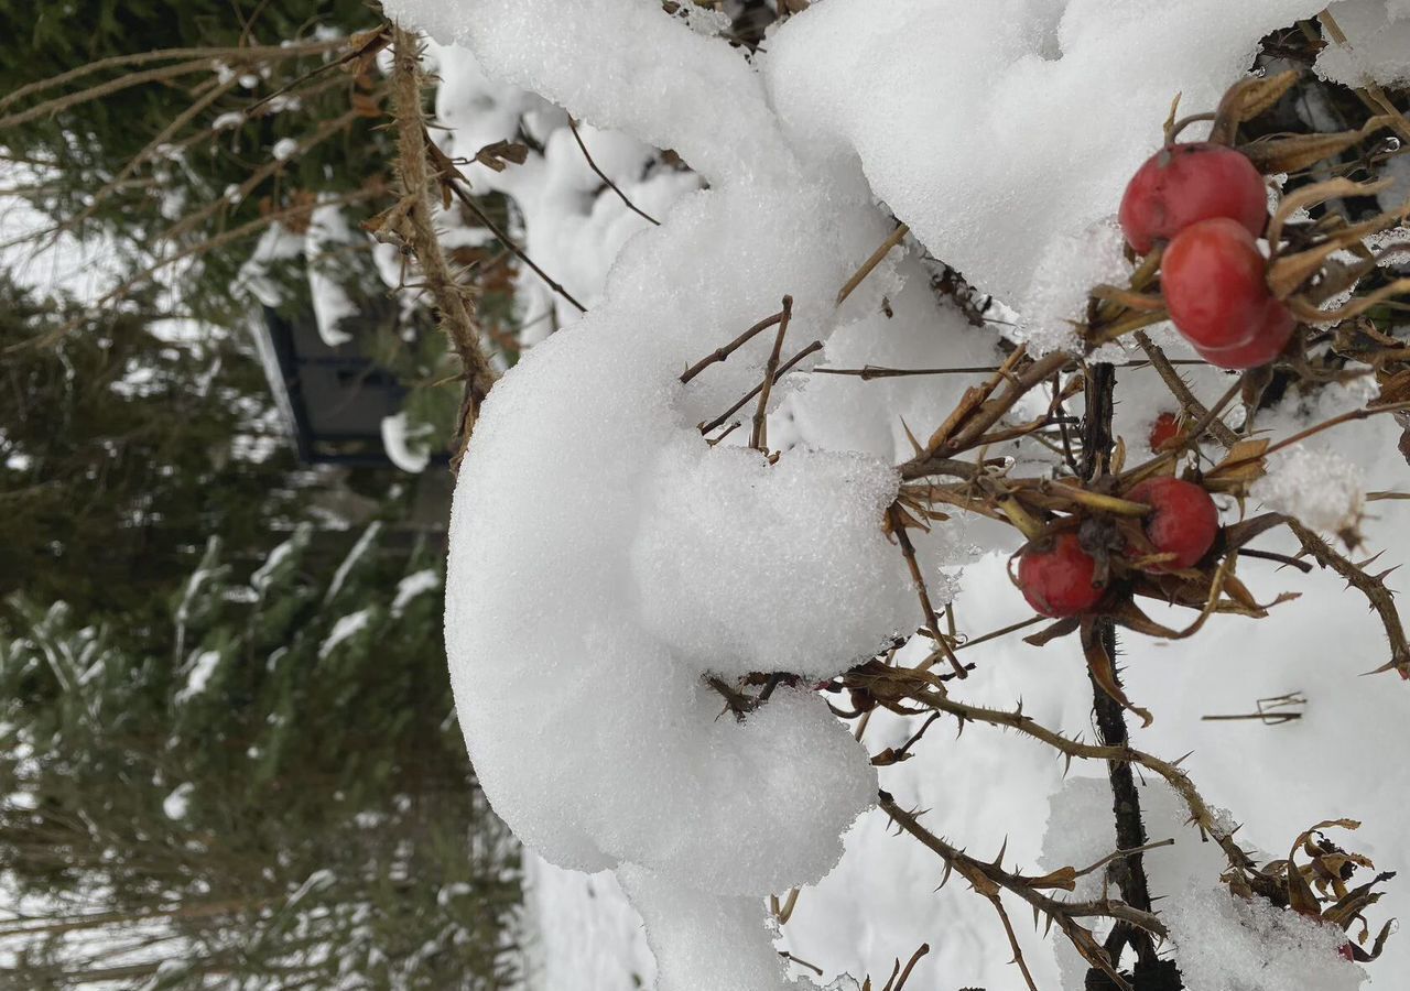
[[413,519],[444,499],[300,465],[250,334],[331,300],[320,331],[450,440],[446,343],[358,227],[393,199],[381,25],[362,0],[0,0],[7,193],[49,224],[27,245],[117,269],[89,299],[0,273],[0,987],[516,978],[519,853]]

